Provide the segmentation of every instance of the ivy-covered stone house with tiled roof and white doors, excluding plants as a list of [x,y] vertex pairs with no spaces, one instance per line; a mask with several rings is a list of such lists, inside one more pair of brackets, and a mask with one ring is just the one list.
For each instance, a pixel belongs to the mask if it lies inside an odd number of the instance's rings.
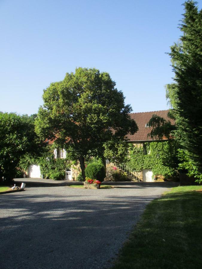
[[[151,132],[151,127],[148,126],[148,121],[151,119],[151,117],[156,114],[157,116],[163,117],[165,120],[170,120],[172,124],[174,124],[174,120],[168,118],[168,111],[169,110],[159,110],[159,111],[150,111],[150,112],[138,112],[138,113],[130,113],[130,117],[135,120],[138,131],[134,135],[127,135],[128,143],[132,143],[134,146],[143,146],[146,152],[145,143],[149,142],[155,142],[159,140],[155,140],[154,138],[151,138],[148,136],[148,134]],[[162,141],[167,140],[165,137],[163,137]],[[48,141],[49,145],[52,145],[54,141]],[[54,149],[54,158],[66,158],[66,150],[65,149]],[[112,174],[112,167],[114,166],[113,163],[107,163],[107,173]],[[78,173],[81,171],[79,163],[76,165],[72,165],[71,169],[66,168],[65,174],[66,178],[68,180],[72,180],[72,178],[76,178]],[[40,167],[31,164],[28,167],[28,176],[33,178],[40,178]],[[144,169],[140,175],[139,178],[142,181],[153,181],[153,175],[150,169]]]

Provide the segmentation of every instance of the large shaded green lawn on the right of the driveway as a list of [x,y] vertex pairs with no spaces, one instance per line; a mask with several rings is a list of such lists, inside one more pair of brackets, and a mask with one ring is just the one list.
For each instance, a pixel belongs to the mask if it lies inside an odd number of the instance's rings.
[[172,188],[146,207],[113,269],[202,268],[202,186]]

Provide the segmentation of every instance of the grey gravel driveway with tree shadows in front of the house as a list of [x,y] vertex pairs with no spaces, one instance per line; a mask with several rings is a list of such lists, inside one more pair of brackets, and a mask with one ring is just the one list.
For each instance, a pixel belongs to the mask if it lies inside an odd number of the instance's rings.
[[27,181],[24,192],[0,195],[1,269],[109,268],[145,206],[173,187],[127,182],[94,190]]

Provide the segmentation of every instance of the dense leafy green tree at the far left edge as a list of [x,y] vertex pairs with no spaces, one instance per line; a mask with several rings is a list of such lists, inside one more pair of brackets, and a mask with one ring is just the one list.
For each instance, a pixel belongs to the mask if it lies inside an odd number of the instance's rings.
[[16,176],[20,158],[38,155],[43,143],[34,132],[34,117],[0,112],[0,183],[9,184]]

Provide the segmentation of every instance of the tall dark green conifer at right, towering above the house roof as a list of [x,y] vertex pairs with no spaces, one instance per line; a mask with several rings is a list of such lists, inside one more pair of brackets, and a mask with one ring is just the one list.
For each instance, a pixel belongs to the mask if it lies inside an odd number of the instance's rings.
[[[155,127],[153,135],[161,135],[163,130],[178,140],[186,163],[192,163],[197,178],[202,174],[202,10],[197,3],[186,1],[185,13],[179,25],[182,36],[178,43],[171,46],[171,64],[174,71],[174,83],[166,85],[166,97],[172,107],[170,116],[175,118],[176,126],[163,119],[150,120]],[[189,161],[188,161],[189,160]],[[183,167],[183,165],[181,166]],[[186,165],[188,167],[188,165]],[[192,168],[190,168],[192,169]],[[189,170],[189,169],[188,169]]]

